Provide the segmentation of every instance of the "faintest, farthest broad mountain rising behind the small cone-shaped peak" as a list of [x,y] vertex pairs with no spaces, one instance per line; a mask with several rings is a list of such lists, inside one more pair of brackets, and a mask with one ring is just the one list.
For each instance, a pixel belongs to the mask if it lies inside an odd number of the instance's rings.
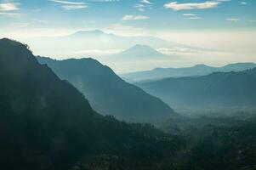
[[30,44],[36,54],[62,57],[109,55],[109,53],[97,54],[95,51],[107,52],[113,50],[118,53],[133,47],[135,44],[145,44],[152,48],[191,48],[158,37],[125,37],[100,30],[77,31],[63,37],[20,38],[20,41]]

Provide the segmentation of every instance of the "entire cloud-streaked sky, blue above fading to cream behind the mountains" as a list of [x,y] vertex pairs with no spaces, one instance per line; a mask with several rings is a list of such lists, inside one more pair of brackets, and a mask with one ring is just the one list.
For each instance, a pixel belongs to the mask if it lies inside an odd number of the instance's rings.
[[[255,0],[0,0],[0,37],[55,37],[98,29],[229,50],[229,56],[240,49],[247,55],[234,55],[234,62],[256,61],[255,8]],[[220,65],[223,56],[209,64]]]

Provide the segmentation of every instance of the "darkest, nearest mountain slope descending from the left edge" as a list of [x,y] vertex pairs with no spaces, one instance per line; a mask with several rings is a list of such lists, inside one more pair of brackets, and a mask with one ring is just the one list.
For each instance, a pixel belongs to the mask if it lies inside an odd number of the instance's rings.
[[0,39],[0,80],[1,169],[163,169],[179,146],[151,125],[100,116],[20,42]]

